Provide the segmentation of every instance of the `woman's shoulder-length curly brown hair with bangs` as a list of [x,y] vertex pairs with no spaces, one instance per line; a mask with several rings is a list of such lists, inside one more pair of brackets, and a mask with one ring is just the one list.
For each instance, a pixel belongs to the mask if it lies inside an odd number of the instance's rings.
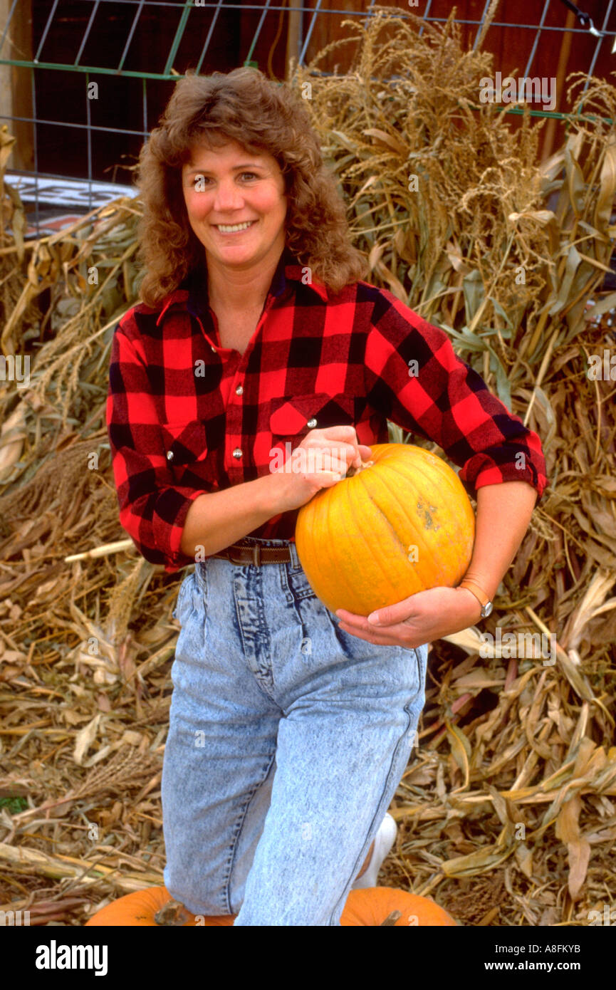
[[159,307],[205,264],[203,245],[188,223],[181,168],[193,147],[220,148],[229,140],[277,161],[288,197],[285,246],[299,262],[333,293],[364,278],[365,257],[350,242],[345,202],[301,100],[257,68],[189,72],[176,83],[139,158],[139,256],[146,268],[140,294],[146,305]]

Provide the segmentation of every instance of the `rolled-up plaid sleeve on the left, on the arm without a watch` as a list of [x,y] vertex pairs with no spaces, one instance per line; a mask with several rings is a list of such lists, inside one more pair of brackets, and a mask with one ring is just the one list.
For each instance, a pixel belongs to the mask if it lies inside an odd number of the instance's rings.
[[205,491],[174,485],[145,357],[139,340],[130,339],[122,327],[121,321],[114,331],[107,393],[120,523],[146,560],[174,573],[194,563],[180,541],[188,509]]

